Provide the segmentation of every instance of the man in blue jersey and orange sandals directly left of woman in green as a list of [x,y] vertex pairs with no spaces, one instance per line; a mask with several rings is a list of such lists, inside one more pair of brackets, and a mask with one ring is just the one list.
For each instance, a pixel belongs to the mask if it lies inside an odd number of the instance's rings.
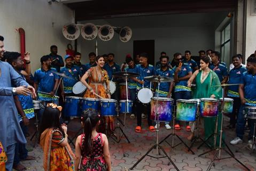
[[[189,64],[182,63],[182,57],[181,55],[176,56],[176,60],[180,61],[179,66],[175,66],[173,70],[174,73],[174,82],[175,82],[175,88],[174,88],[174,98],[175,103],[177,99],[191,99],[191,88],[188,87],[188,80],[190,76],[192,75],[192,69]],[[190,131],[191,128],[189,126],[189,122],[186,122],[186,130]],[[174,126],[174,129],[180,130],[180,121],[176,121],[176,124]]]

